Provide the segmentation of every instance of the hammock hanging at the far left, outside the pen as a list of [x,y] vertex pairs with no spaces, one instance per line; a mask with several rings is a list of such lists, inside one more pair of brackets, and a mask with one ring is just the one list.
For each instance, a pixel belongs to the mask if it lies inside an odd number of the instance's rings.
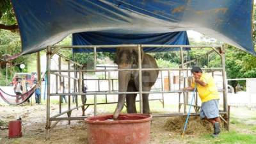
[[35,84],[33,86],[33,88],[31,88],[28,92],[23,93],[21,95],[9,95],[8,93],[4,92],[1,88],[0,88],[0,97],[4,100],[4,102],[6,102],[7,104],[10,105],[19,105],[22,104],[23,102],[26,102],[26,100],[28,100],[33,93],[35,92],[37,84]]

